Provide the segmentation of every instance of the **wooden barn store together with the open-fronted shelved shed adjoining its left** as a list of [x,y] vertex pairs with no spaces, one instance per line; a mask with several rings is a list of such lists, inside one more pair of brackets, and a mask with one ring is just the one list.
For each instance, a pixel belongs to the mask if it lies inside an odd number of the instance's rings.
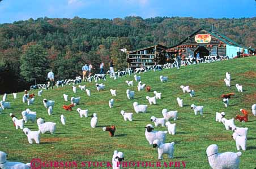
[[248,54],[248,49],[214,30],[200,28],[176,46],[168,48],[162,45],[153,45],[129,51],[127,52],[127,62],[131,69],[135,69],[165,64],[166,59],[170,56],[195,57],[198,52],[201,58],[209,55],[233,58],[240,54]]

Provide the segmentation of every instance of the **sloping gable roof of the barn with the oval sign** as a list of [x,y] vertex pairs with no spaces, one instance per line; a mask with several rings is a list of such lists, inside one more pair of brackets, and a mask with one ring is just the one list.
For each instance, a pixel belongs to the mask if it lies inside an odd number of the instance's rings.
[[[171,46],[169,48],[173,48],[176,46],[181,45],[182,43],[184,43],[187,39],[189,39],[190,37],[193,37],[193,35],[197,34],[198,32],[200,32],[201,30],[204,30],[203,28],[198,29],[197,31],[195,31],[194,33],[192,33],[189,37],[187,37],[186,39],[184,39],[183,41],[181,41],[180,43],[178,43],[178,45],[175,46]],[[226,37],[223,34],[220,34],[219,32],[216,32],[214,30],[204,30],[207,33],[211,34],[212,36],[214,36],[215,38],[219,39],[220,41],[226,43],[227,45],[232,45],[232,46],[238,46],[238,47],[243,47],[241,45],[239,45],[238,43],[234,42],[232,39]]]

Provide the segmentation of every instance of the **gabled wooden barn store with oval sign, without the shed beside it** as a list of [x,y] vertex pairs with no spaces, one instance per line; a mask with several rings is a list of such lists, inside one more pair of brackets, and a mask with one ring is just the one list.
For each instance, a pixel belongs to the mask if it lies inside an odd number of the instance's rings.
[[240,53],[248,54],[248,49],[238,45],[232,39],[214,30],[199,29],[176,46],[169,47],[169,55],[176,54],[184,57],[196,56],[228,56],[233,58]]

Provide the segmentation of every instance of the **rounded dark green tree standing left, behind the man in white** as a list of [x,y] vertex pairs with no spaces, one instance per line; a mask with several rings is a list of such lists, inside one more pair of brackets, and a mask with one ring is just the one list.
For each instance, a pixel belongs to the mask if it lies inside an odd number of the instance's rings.
[[47,52],[41,45],[31,45],[24,51],[20,57],[20,74],[26,81],[37,84],[45,80],[49,68],[46,56]]

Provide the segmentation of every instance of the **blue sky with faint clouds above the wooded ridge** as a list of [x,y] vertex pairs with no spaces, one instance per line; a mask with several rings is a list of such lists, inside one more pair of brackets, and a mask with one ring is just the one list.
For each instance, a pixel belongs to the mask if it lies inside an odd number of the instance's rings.
[[255,0],[2,0],[0,23],[38,17],[108,18],[180,16],[240,18],[256,16]]

